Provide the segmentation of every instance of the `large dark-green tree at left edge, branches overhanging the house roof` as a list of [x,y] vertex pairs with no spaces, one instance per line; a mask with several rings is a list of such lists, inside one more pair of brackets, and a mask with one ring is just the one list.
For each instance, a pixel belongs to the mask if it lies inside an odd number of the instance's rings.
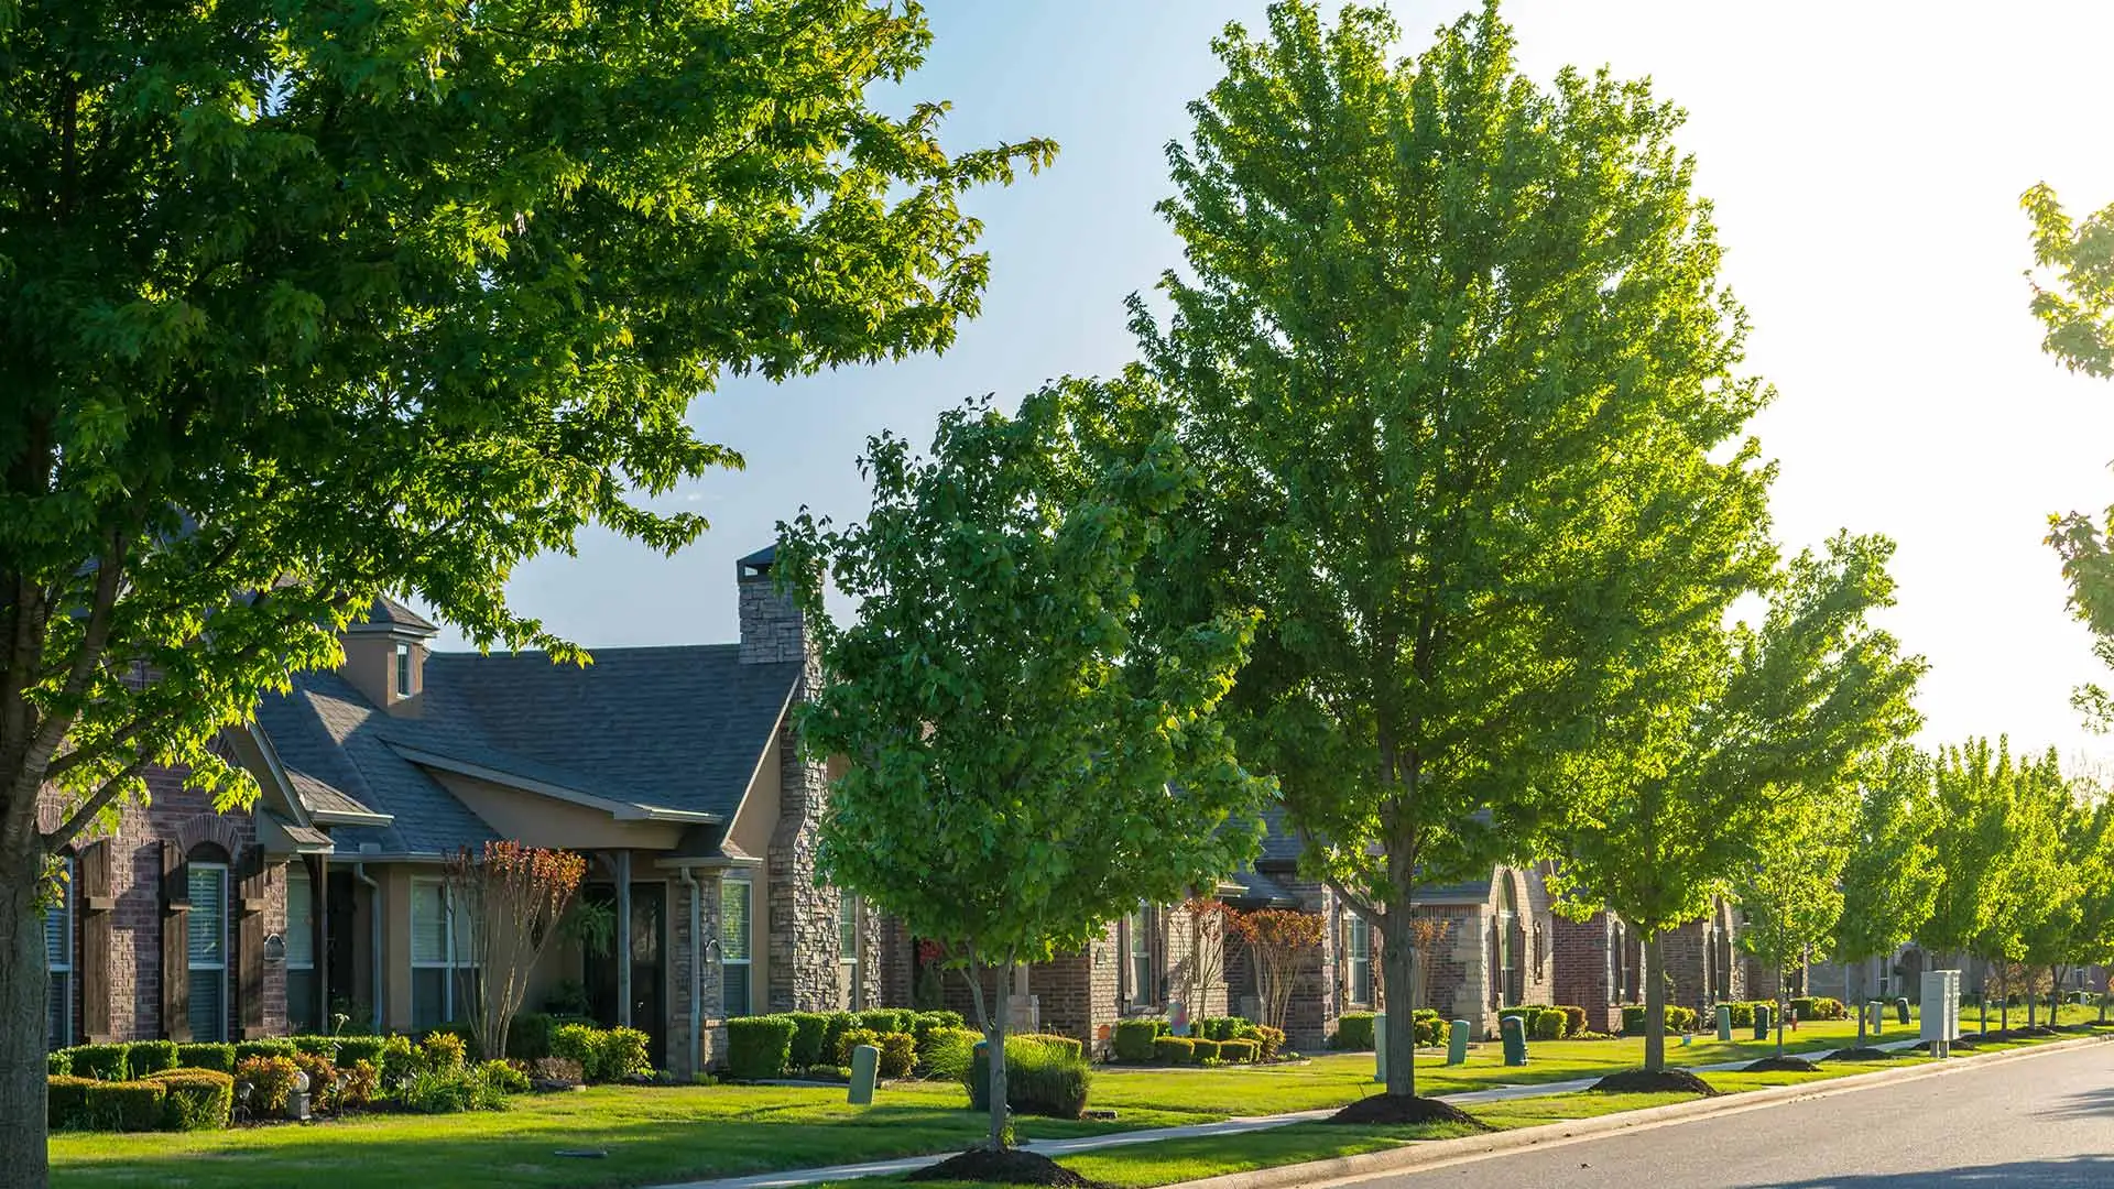
[[[47,857],[336,660],[383,590],[581,658],[505,582],[740,457],[721,377],[941,349],[987,262],[852,0],[0,2],[0,1185],[44,1185]],[[150,677],[150,679],[137,679]],[[59,815],[38,819],[51,789]]]

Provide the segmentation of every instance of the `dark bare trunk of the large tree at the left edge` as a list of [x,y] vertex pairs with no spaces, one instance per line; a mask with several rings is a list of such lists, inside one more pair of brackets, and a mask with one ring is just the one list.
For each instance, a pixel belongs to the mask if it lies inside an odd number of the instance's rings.
[[0,1189],[44,1189],[42,861],[0,857]]

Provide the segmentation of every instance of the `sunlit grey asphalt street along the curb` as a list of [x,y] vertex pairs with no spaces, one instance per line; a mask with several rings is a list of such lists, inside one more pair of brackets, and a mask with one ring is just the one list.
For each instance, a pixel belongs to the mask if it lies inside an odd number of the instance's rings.
[[[1347,1183],[1349,1185],[1349,1183]],[[1355,1181],[1399,1189],[2114,1189],[2114,1045]]]

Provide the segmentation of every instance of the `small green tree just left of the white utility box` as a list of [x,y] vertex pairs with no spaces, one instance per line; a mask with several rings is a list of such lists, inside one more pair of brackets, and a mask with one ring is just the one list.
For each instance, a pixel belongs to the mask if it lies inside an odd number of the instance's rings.
[[1930,918],[1939,891],[1936,855],[1930,836],[1936,806],[1930,791],[1930,757],[1898,743],[1858,772],[1858,810],[1843,861],[1843,910],[1835,922],[1833,950],[1850,973],[1843,1003],[1858,1013],[1858,1047],[1865,1045],[1865,963],[1888,956],[1915,939],[1915,927]]

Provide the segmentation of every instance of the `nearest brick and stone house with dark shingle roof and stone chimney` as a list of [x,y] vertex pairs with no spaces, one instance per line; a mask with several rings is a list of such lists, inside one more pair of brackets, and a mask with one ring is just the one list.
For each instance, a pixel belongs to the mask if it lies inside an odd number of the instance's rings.
[[497,838],[586,853],[607,941],[556,946],[526,1003],[643,1028],[655,1064],[704,1068],[727,1016],[879,1005],[903,982],[877,969],[888,922],[814,878],[829,770],[791,711],[818,664],[772,556],[736,567],[736,641],[590,666],[433,652],[438,628],[381,599],[336,671],[218,740],[254,810],[156,772],[152,804],[68,855],[53,1043],[457,1020],[482,975],[444,863]]

